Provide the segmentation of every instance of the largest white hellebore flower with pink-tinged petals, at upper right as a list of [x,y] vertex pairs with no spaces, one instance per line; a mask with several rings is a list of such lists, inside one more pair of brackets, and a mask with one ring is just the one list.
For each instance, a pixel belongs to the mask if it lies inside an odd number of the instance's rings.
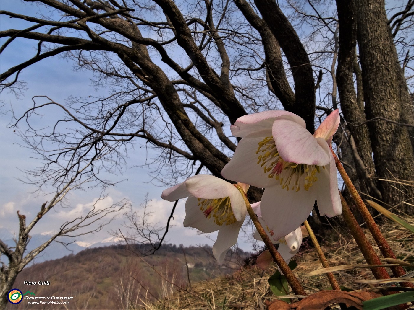
[[301,117],[287,111],[244,115],[231,125],[233,136],[243,139],[221,174],[225,179],[265,188],[261,212],[276,239],[305,221],[315,199],[321,216],[341,214],[330,151],[338,126],[338,110],[313,135]]

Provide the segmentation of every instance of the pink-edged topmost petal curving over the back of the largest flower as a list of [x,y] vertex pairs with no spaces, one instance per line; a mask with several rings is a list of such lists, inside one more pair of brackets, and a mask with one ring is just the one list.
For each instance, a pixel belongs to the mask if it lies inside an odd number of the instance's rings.
[[274,120],[282,116],[289,117],[289,119],[303,127],[306,126],[305,121],[294,113],[283,110],[273,110],[247,114],[239,117],[236,122],[230,126],[231,134],[243,138],[254,131],[270,130]]

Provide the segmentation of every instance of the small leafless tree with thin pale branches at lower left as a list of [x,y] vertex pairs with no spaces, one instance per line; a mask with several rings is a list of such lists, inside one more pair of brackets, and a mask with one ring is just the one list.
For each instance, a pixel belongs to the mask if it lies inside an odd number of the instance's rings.
[[[86,166],[83,169],[87,168],[88,167]],[[78,173],[82,173],[83,169],[80,169]],[[96,200],[94,205],[87,211],[86,214],[67,219],[60,225],[57,231],[53,232],[53,235],[46,242],[37,246],[33,250],[26,251],[35,225],[41,226],[41,219],[46,217],[47,213],[57,205],[60,205],[63,200],[65,200],[67,193],[86,184],[87,181],[90,181],[90,178],[89,180],[81,180],[79,183],[77,174],[74,174],[70,178],[66,178],[64,183],[60,184],[60,186],[56,188],[55,193],[49,195],[51,196],[51,200],[46,201],[43,205],[41,205],[39,212],[29,223],[26,222],[26,215],[20,214],[19,210],[17,211],[17,216],[19,218],[19,234],[14,239],[15,244],[6,244],[0,239],[0,254],[1,256],[4,255],[2,257],[0,256],[1,308],[5,308],[8,303],[7,293],[10,289],[12,289],[17,274],[19,274],[19,272],[21,272],[22,269],[29,264],[29,262],[31,262],[37,255],[39,255],[39,253],[46,249],[53,241],[60,242],[64,246],[68,246],[69,243],[62,242],[61,238],[70,237],[72,239],[71,242],[74,242],[76,241],[76,237],[100,231],[106,224],[109,224],[112,221],[116,212],[128,205],[127,200],[122,200],[109,206],[102,206],[99,203],[101,200],[104,200],[106,196],[101,196],[98,200]],[[3,258],[7,258],[8,263],[4,261]]]

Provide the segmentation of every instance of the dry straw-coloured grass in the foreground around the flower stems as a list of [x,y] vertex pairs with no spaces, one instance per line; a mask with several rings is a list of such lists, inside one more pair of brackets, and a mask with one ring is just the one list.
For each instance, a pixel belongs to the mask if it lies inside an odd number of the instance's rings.
[[[412,263],[414,236],[388,219],[384,221],[385,224],[381,226],[381,230],[390,247],[395,251],[397,258]],[[366,231],[366,235],[371,244],[374,244],[368,231]],[[329,238],[323,240],[321,246],[331,266],[366,264],[354,239],[346,231],[334,231]],[[373,247],[382,258],[378,247]],[[307,242],[304,243],[301,252],[294,259],[298,263],[294,273],[307,293],[314,293],[330,286],[324,274],[303,277],[304,274],[322,268],[315,251]],[[276,268],[273,267],[263,272],[255,266],[242,267],[232,275],[193,284],[191,289],[177,289],[167,299],[152,303],[143,301],[144,309],[265,309],[264,301],[275,298],[267,283],[267,279],[275,270]],[[389,268],[387,270],[389,271]],[[335,277],[339,285],[353,290],[370,287],[368,284],[356,283],[356,280],[373,279],[368,268],[336,272]]]

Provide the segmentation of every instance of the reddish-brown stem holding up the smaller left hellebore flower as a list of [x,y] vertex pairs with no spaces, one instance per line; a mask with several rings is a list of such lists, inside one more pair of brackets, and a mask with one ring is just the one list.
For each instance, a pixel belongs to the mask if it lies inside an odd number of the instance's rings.
[[255,224],[255,227],[258,230],[260,236],[262,237],[262,240],[265,242],[265,245],[267,246],[267,249],[270,251],[270,254],[272,254],[272,257],[273,257],[274,261],[276,262],[276,264],[279,266],[280,270],[282,270],[282,272],[283,272],[284,276],[286,277],[286,280],[290,284],[292,290],[294,291],[294,293],[296,295],[307,296],[305,290],[303,289],[303,287],[299,283],[298,279],[295,277],[295,275],[293,274],[293,272],[291,271],[289,266],[286,264],[286,262],[282,258],[282,255],[280,255],[279,252],[277,252],[277,250],[274,247],[274,245],[273,245],[272,241],[270,240],[269,236],[267,236],[267,234],[265,232],[265,229],[263,229],[262,225],[260,224],[260,222],[259,222],[255,212],[253,211],[253,209],[252,209],[252,207],[249,203],[249,200],[247,199],[246,194],[244,193],[243,189],[241,188],[240,185],[235,185],[235,186],[240,191],[241,196],[243,197],[243,199],[246,203],[247,212],[250,215],[250,218],[252,219],[253,224]]

